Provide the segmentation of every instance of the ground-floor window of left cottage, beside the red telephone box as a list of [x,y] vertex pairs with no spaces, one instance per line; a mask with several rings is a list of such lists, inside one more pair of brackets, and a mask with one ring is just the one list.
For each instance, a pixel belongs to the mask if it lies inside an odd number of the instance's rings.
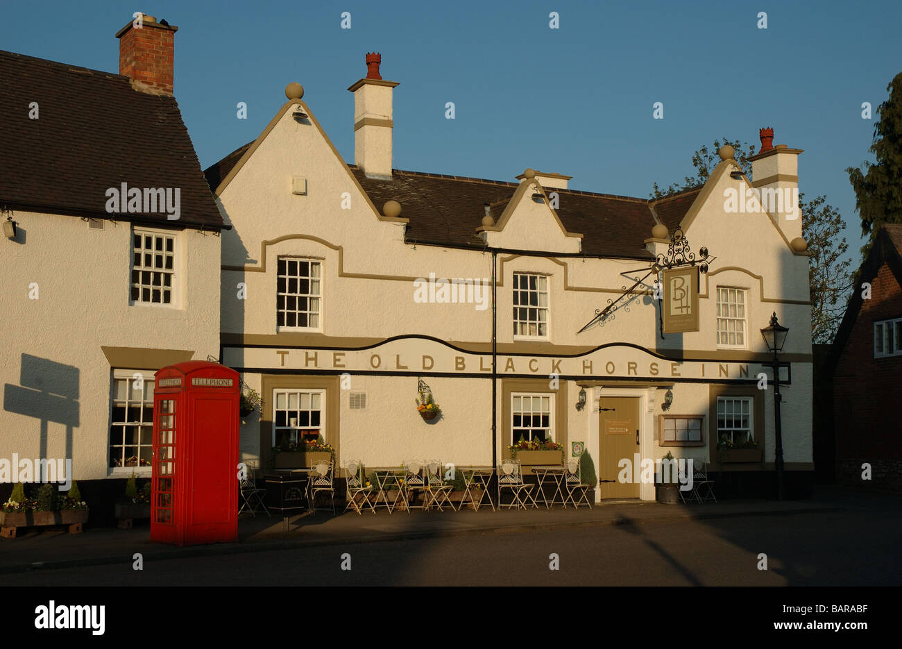
[[153,459],[153,373],[115,370],[109,466],[150,467]]

